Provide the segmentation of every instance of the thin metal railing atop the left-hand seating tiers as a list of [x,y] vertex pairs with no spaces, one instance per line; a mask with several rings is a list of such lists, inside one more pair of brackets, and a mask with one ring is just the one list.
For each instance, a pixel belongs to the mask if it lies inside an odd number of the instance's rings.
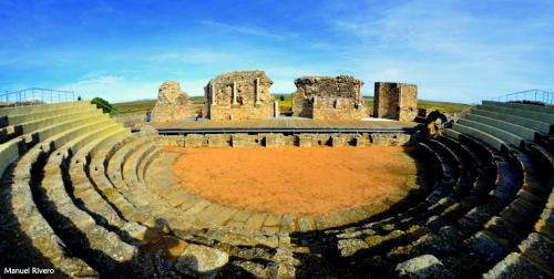
[[0,102],[12,105],[29,103],[58,103],[75,100],[75,92],[51,89],[25,89],[13,92],[0,93]]

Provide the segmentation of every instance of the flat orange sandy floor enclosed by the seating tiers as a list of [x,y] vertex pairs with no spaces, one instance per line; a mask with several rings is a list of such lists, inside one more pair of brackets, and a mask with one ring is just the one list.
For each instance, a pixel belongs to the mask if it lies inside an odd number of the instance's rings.
[[417,172],[399,146],[165,151],[181,153],[172,170],[188,193],[275,214],[325,215],[367,205]]

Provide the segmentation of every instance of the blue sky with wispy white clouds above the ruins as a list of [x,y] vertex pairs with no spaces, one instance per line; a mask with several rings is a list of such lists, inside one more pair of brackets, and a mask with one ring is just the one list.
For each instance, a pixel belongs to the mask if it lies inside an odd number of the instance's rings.
[[553,0],[0,0],[0,90],[73,90],[111,102],[191,95],[220,72],[265,70],[273,93],[302,75],[419,85],[476,102],[554,90]]

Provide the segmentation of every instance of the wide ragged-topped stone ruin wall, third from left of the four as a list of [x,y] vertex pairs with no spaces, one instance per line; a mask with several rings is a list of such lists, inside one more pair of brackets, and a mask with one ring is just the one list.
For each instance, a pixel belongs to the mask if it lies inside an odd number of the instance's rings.
[[293,115],[315,120],[360,120],[368,116],[363,82],[350,75],[302,76],[295,81]]

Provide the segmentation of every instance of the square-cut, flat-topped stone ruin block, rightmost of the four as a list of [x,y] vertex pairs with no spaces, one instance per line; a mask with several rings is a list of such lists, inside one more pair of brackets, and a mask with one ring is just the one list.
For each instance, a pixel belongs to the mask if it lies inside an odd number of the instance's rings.
[[411,122],[418,116],[418,86],[407,83],[376,82],[373,116]]

